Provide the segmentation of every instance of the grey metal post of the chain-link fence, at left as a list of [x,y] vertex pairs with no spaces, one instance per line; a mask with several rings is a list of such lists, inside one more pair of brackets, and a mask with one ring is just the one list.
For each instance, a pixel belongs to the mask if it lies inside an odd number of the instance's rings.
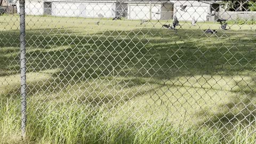
[[26,39],[25,39],[25,0],[20,0],[20,75],[21,75],[21,136],[26,135]]

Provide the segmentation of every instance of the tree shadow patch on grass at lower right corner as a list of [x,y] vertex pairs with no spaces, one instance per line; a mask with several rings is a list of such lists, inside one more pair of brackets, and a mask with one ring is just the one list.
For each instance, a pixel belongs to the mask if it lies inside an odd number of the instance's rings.
[[196,112],[197,116],[208,117],[203,123],[198,123],[199,126],[206,125],[212,129],[217,128],[223,133],[228,133],[235,131],[236,125],[246,126],[255,123],[255,77],[249,84],[241,84],[240,82],[237,82],[238,89],[231,90],[236,94],[229,98],[229,102],[216,106],[219,108],[218,113],[213,114],[209,109]]

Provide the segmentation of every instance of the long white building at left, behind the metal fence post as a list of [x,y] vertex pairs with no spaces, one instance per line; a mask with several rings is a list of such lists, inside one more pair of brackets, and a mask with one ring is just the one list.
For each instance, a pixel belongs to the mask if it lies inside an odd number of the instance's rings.
[[[17,7],[19,7],[19,2]],[[25,12],[29,15],[60,17],[113,18],[116,17],[117,12],[126,16],[125,7],[127,4],[119,1],[30,0],[25,2]]]

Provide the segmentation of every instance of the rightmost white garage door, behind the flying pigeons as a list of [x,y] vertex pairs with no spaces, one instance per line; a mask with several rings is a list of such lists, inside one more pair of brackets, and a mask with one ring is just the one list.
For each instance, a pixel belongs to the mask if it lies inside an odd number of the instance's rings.
[[197,21],[206,21],[206,16],[209,7],[207,6],[188,6],[187,12],[183,12],[180,10],[180,6],[177,6],[176,16],[180,21],[191,21],[193,17],[197,19]]

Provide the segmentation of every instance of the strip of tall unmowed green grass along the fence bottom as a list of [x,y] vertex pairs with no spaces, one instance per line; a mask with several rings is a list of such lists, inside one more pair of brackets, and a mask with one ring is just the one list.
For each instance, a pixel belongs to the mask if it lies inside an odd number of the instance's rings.
[[246,127],[234,124],[230,131],[205,126],[182,130],[182,126],[175,129],[166,118],[154,123],[132,119],[111,123],[101,108],[42,105],[28,109],[27,138],[21,140],[18,118],[8,117],[19,114],[17,106],[19,103],[12,101],[1,107],[1,143],[253,143],[256,139],[255,122]]

